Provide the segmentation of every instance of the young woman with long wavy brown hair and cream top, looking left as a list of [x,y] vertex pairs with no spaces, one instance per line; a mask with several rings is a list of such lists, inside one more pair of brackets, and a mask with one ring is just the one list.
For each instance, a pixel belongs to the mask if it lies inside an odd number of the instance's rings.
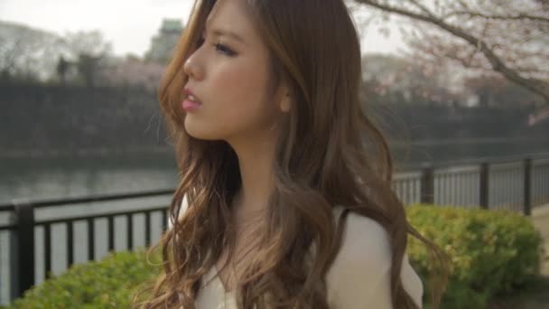
[[142,307],[422,307],[360,77],[343,0],[195,3],[159,94],[181,183]]

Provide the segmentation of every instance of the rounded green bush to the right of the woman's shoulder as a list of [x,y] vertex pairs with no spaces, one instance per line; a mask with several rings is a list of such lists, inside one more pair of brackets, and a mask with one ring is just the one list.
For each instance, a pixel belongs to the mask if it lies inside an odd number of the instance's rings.
[[[539,274],[542,239],[527,217],[419,204],[406,211],[414,228],[451,257],[442,308],[486,308],[494,295],[519,289]],[[433,270],[428,253],[423,243],[409,239],[410,261],[427,279]],[[423,283],[428,300],[428,281]]]

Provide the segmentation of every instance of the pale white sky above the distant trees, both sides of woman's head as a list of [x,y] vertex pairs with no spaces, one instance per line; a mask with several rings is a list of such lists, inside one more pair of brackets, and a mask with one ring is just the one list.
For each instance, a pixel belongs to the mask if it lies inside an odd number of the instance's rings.
[[[142,56],[149,49],[163,18],[181,19],[191,12],[193,0],[0,0],[0,20],[23,23],[60,35],[99,30],[114,52]],[[363,52],[395,52],[402,48],[398,31],[390,38],[368,30]]]

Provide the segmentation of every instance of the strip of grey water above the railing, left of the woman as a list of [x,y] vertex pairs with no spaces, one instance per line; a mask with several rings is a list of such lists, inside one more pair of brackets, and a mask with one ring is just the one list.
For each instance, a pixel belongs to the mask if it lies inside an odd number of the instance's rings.
[[170,189],[177,180],[173,155],[169,154],[23,157],[4,159],[0,164],[0,203],[16,198]]

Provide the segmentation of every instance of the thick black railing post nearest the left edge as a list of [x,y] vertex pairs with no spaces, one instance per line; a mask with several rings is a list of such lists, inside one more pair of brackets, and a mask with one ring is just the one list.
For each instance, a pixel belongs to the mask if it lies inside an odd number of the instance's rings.
[[12,298],[20,297],[34,285],[34,209],[28,201],[12,201],[15,209],[15,235],[12,238]]

